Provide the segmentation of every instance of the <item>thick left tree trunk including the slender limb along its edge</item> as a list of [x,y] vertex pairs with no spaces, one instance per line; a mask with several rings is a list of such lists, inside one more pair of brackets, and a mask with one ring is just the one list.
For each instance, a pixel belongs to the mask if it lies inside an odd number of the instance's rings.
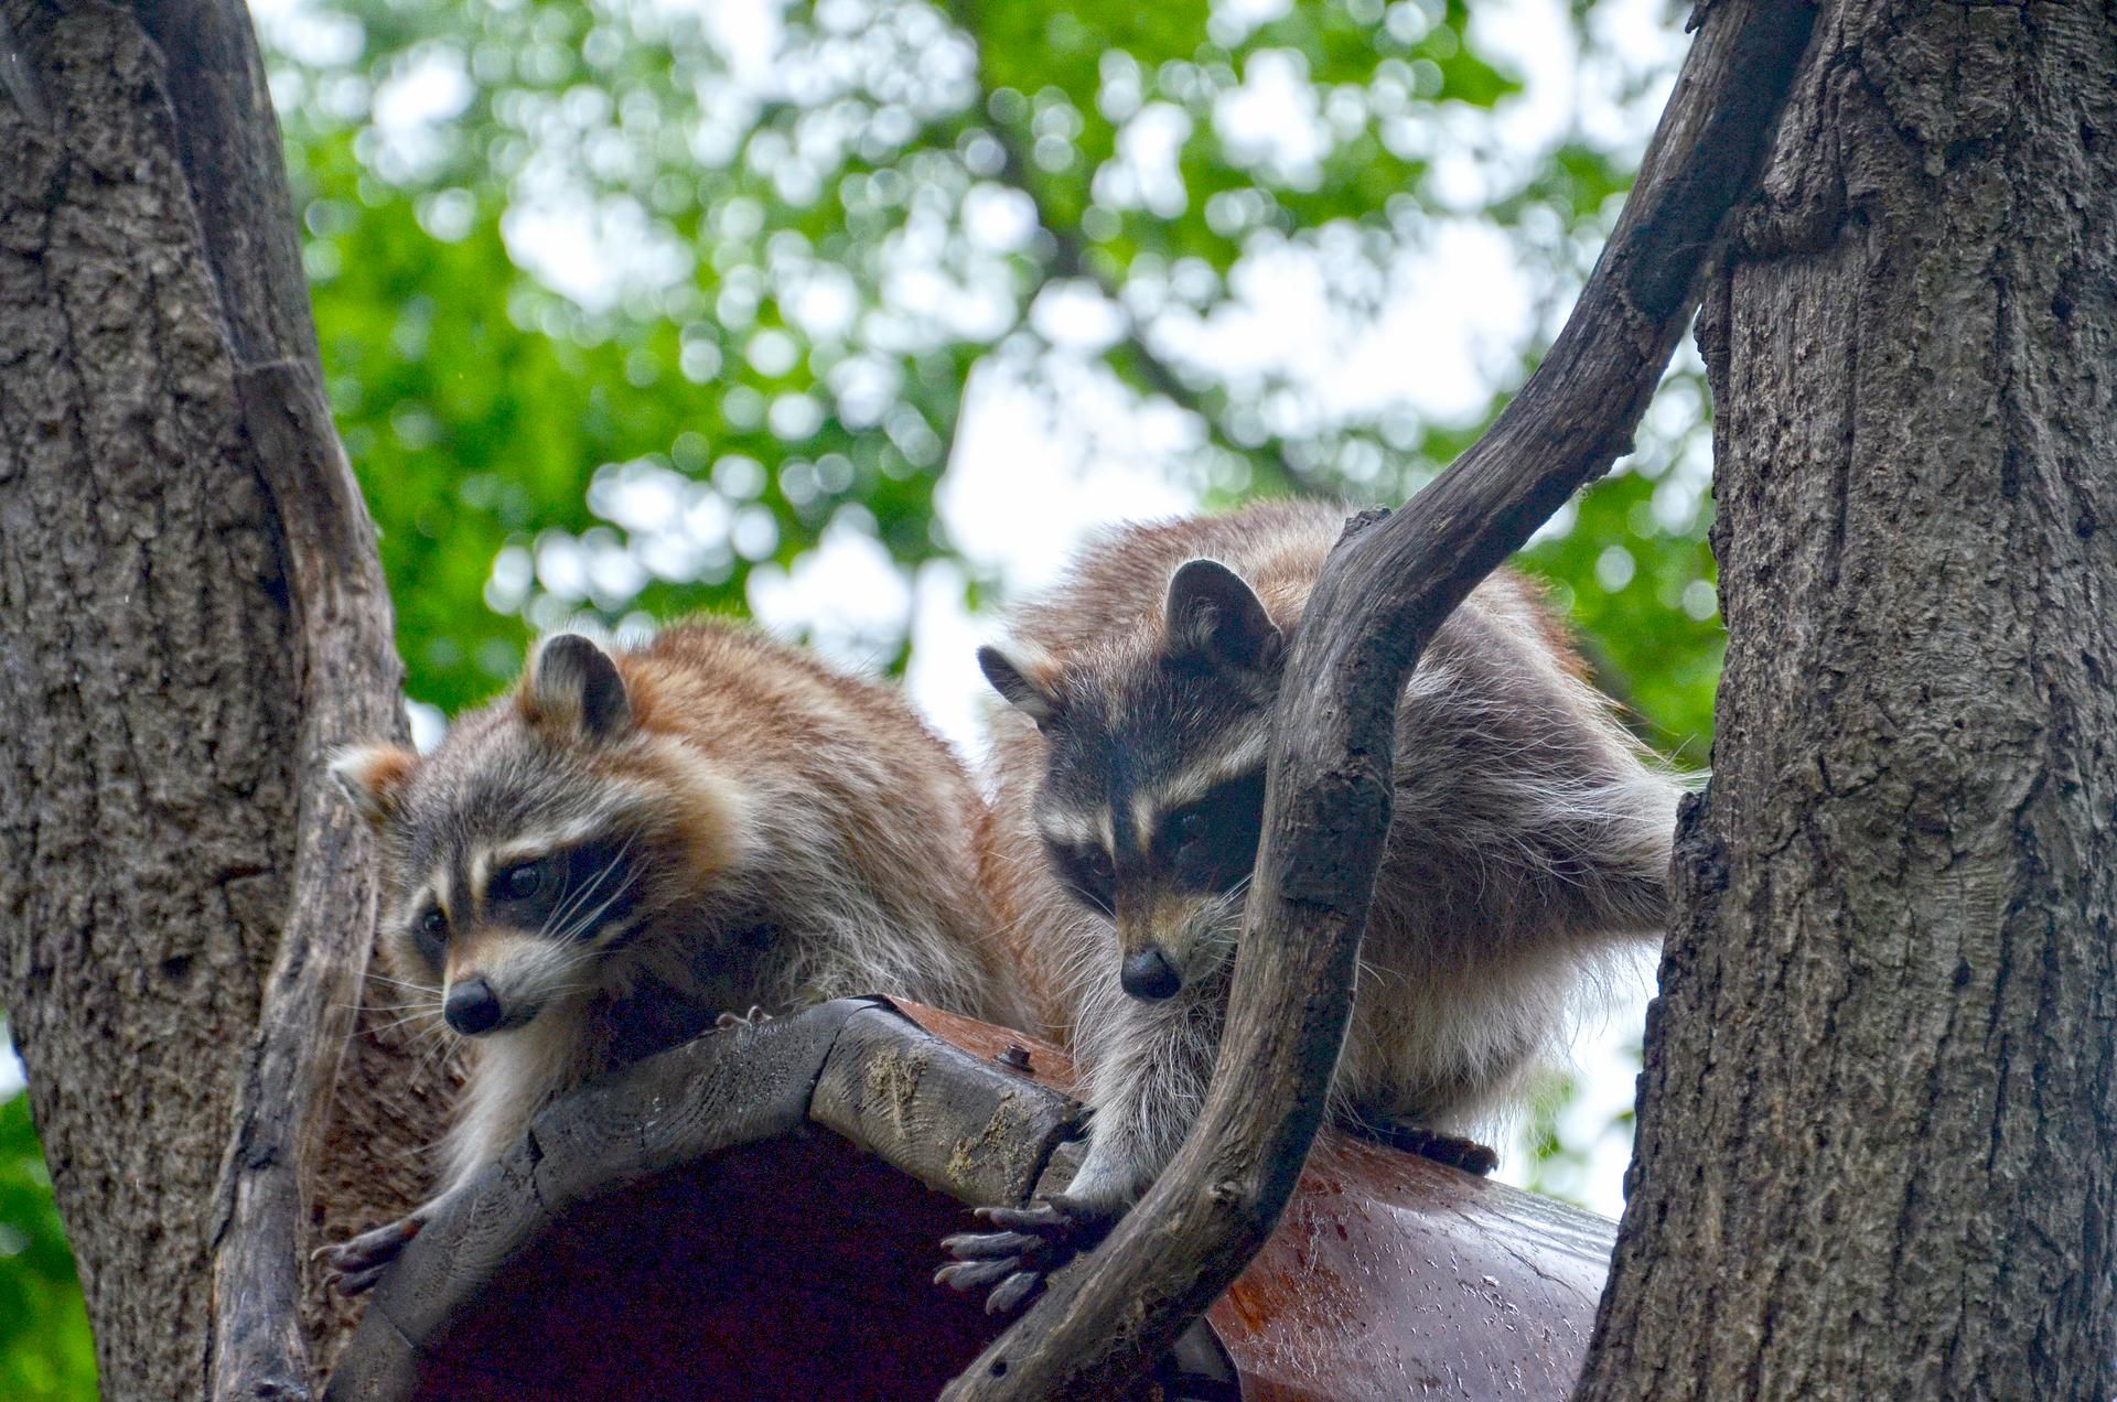
[[373,1033],[330,1116],[398,673],[279,161],[239,4],[0,0],[0,1006],[112,1398],[301,1396],[436,1122]]

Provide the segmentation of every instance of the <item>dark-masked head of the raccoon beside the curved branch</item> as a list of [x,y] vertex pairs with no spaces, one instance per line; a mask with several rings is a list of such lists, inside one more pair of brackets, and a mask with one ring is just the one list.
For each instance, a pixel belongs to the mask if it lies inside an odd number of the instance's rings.
[[1058,881],[1116,925],[1118,978],[1173,997],[1234,953],[1264,820],[1283,637],[1228,568],[1169,582],[1147,650],[1050,665],[984,648],[987,680],[1042,729],[1037,828]]

